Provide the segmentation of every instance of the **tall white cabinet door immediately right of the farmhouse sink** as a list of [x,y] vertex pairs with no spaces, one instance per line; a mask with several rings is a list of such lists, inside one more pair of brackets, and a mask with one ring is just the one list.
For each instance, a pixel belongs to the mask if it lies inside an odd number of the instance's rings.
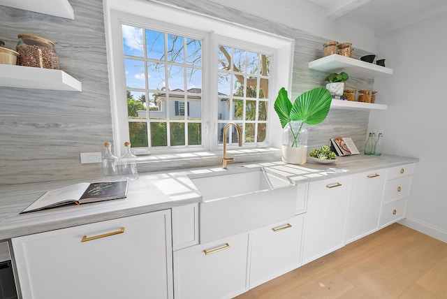
[[344,245],[351,175],[309,183],[302,263],[309,263]]

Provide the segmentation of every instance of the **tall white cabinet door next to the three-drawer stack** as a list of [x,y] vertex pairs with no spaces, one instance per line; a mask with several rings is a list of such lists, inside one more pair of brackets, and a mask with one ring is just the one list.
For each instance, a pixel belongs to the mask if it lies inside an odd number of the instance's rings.
[[345,243],[353,242],[378,229],[385,180],[386,169],[353,175]]

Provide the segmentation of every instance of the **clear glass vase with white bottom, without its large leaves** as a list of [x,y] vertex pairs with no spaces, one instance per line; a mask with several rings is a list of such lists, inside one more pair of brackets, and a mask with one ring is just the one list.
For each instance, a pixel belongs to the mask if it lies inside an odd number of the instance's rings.
[[307,161],[307,129],[304,122],[288,122],[282,131],[282,161],[304,164]]

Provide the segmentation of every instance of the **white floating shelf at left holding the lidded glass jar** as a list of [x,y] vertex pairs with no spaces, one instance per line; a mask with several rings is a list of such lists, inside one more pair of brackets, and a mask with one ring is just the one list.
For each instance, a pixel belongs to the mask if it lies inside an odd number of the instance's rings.
[[82,83],[64,71],[0,64],[0,86],[82,92]]

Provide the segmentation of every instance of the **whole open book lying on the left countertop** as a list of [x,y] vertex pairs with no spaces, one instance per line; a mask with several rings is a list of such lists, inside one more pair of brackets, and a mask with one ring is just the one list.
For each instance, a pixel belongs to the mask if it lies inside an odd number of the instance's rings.
[[81,205],[82,203],[126,198],[127,187],[127,181],[73,184],[45,192],[20,214],[61,205]]

